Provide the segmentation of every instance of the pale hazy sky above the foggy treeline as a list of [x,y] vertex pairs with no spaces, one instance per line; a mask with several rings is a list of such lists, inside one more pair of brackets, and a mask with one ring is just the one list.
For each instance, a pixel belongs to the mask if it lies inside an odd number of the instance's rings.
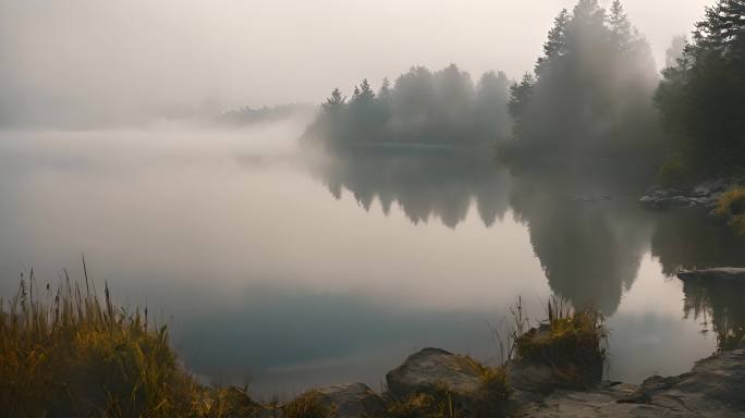
[[[0,125],[320,102],[414,64],[518,77],[575,2],[0,0]],[[712,2],[624,5],[659,65]]]

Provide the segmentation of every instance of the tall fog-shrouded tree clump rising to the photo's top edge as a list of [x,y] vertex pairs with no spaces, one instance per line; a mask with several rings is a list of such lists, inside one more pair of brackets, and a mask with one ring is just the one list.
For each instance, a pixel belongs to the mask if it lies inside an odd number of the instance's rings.
[[562,10],[533,73],[511,87],[511,144],[529,156],[573,157],[654,145],[659,82],[649,45],[619,0]]

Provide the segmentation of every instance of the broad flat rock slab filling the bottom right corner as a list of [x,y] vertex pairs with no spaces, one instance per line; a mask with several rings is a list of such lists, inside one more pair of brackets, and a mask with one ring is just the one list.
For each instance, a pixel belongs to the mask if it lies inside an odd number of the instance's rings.
[[521,417],[745,417],[745,349],[713,355],[689,373],[651,378],[640,386],[606,384],[590,392],[557,391],[522,408]]

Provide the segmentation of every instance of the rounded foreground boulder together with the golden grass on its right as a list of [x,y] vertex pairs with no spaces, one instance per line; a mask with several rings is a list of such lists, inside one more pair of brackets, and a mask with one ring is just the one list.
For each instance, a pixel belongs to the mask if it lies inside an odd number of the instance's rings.
[[[440,348],[425,348],[406,358],[386,376],[390,396],[405,402],[416,395],[429,395],[452,405],[466,416],[499,416],[504,392],[487,383],[487,368],[469,357]],[[499,383],[497,383],[499,385]],[[493,392],[493,393],[492,393]]]

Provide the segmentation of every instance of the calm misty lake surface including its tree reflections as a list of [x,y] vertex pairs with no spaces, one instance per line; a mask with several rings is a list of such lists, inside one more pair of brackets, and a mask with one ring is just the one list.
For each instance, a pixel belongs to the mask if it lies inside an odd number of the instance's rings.
[[[308,158],[302,123],[243,131],[0,133],[0,295],[68,269],[171,327],[204,382],[258,398],[364,381],[427,346],[497,361],[518,298],[608,318],[608,378],[681,373],[745,324],[745,290],[681,267],[745,265],[693,210],[649,211],[624,175],[510,172],[488,151]],[[631,183],[631,184],[630,184]]]

